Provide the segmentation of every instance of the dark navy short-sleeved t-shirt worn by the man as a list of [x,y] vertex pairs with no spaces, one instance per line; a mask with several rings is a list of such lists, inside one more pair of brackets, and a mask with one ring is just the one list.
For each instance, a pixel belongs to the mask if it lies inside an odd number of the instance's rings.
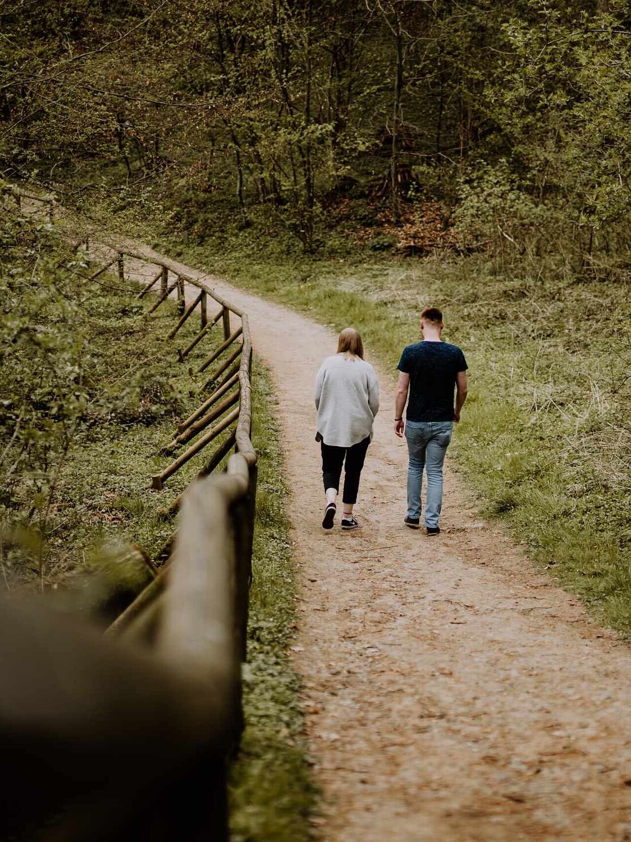
[[409,374],[408,421],[453,421],[456,375],[468,369],[457,345],[448,342],[408,345],[397,368]]

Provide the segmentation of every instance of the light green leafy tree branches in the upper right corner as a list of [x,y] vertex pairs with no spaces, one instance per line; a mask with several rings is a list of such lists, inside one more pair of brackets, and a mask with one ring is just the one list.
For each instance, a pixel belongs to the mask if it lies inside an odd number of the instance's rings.
[[569,221],[599,228],[628,215],[626,4],[572,13],[534,0],[532,19],[504,24],[513,56],[495,117],[527,164],[540,197],[559,198]]

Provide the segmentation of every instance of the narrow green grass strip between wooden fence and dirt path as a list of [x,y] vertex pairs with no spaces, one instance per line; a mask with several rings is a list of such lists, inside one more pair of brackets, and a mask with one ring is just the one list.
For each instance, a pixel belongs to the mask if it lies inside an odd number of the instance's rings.
[[254,446],[259,485],[254,533],[254,583],[249,601],[247,723],[231,783],[234,842],[301,842],[316,792],[302,737],[299,680],[287,657],[296,628],[294,569],[286,517],[280,430],[265,367],[254,366]]

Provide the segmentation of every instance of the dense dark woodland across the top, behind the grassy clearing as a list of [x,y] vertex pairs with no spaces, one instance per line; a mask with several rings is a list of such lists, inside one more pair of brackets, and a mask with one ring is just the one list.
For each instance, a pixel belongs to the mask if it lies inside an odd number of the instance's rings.
[[625,0],[40,7],[3,16],[0,161],[110,225],[201,242],[222,205],[313,253],[352,184],[395,222],[441,201],[502,261],[626,246]]

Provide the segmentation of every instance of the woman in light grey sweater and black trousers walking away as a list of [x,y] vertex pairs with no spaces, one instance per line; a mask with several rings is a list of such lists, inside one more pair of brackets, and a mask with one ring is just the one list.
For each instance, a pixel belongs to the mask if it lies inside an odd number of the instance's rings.
[[315,387],[318,410],[316,440],[322,448],[326,506],[324,529],[333,528],[335,501],[345,466],[342,529],[356,529],[353,517],[361,469],[372,439],[372,422],[379,409],[379,384],[372,365],[364,361],[364,346],[355,328],[340,333],[337,354],[327,357]]

